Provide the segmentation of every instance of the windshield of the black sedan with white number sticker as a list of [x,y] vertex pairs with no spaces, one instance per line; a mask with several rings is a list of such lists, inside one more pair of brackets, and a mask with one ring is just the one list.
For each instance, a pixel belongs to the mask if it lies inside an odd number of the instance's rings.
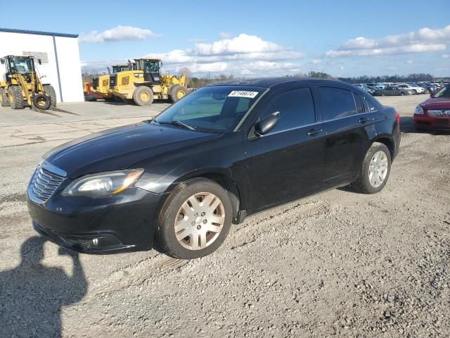
[[266,89],[243,86],[203,87],[158,115],[155,123],[189,129],[231,132]]

